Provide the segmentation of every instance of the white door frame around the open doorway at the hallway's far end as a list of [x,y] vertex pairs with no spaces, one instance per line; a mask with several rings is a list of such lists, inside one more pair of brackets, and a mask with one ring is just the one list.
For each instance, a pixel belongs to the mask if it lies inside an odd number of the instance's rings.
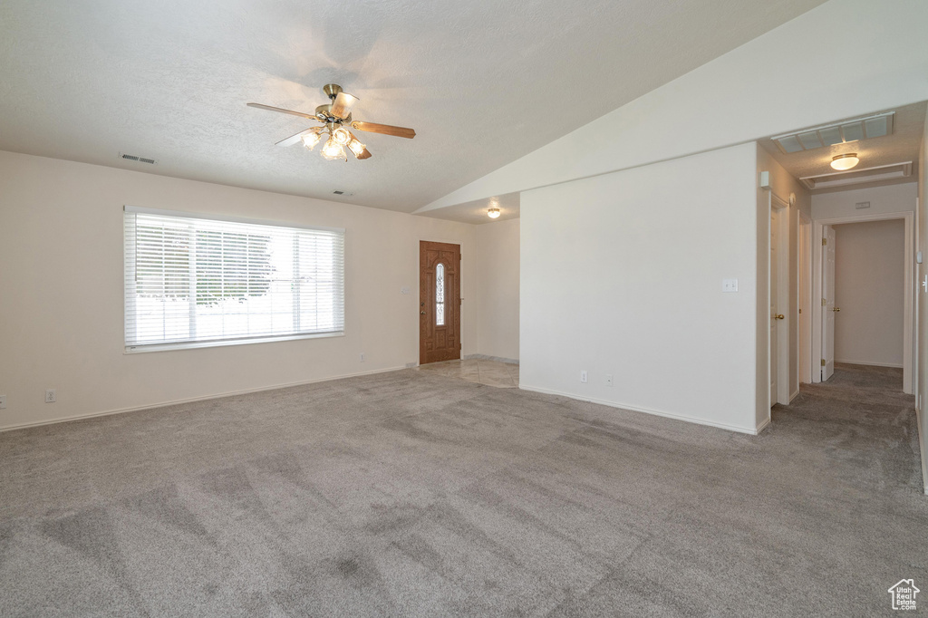
[[[821,266],[822,251],[821,238],[822,228],[825,225],[841,225],[849,223],[867,223],[869,221],[890,221],[893,219],[903,219],[905,221],[905,247],[903,254],[903,288],[902,297],[903,306],[903,336],[902,336],[902,392],[912,394],[912,351],[914,350],[912,333],[914,332],[914,309],[912,306],[914,300],[914,254],[912,253],[914,229],[914,212],[886,212],[883,214],[858,214],[856,216],[831,217],[829,219],[813,219],[812,233],[812,359],[821,358],[821,302],[816,302],[821,298]],[[818,240],[818,241],[817,241]],[[816,371],[816,364],[812,363],[812,381],[818,383],[821,381],[821,371]]]

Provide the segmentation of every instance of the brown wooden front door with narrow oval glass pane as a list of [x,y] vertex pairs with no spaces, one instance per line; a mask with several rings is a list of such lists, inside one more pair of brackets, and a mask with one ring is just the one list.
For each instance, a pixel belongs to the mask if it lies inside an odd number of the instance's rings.
[[461,357],[460,245],[419,242],[419,365]]

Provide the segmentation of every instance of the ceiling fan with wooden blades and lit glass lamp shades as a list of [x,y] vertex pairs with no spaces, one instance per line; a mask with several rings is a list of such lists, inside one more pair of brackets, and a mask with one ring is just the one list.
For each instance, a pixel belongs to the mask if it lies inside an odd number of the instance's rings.
[[302,141],[303,146],[312,150],[316,148],[316,144],[322,141],[323,136],[328,135],[325,145],[322,147],[322,157],[329,161],[335,161],[337,159],[348,161],[345,148],[351,150],[356,159],[370,158],[371,154],[367,150],[367,147],[348,130],[347,127],[349,126],[358,131],[394,135],[396,137],[406,137],[408,139],[412,139],[416,136],[415,131],[406,129],[402,126],[353,121],[351,110],[359,99],[343,92],[342,86],[339,84],[327,84],[323,86],[322,92],[326,93],[331,102],[317,107],[315,114],[306,114],[302,111],[293,111],[292,109],[274,108],[269,105],[262,105],[261,103],[249,103],[248,107],[279,111],[280,113],[322,122],[322,126],[314,126],[296,135],[290,135],[287,139],[280,140],[277,142],[277,146],[293,146]]

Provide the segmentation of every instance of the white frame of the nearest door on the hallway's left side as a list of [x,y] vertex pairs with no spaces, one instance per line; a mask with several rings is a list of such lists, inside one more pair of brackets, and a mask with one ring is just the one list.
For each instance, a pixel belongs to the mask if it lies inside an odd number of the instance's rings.
[[[793,349],[790,346],[790,324],[793,321],[793,307],[790,306],[790,203],[792,200],[784,200],[773,191],[768,191],[770,196],[769,214],[777,215],[777,238],[780,246],[777,247],[777,307],[783,314],[783,319],[777,325],[777,396],[770,397],[775,399],[777,404],[789,405],[790,403],[790,358],[793,355]],[[767,240],[769,245],[769,240]],[[769,251],[769,246],[767,247]],[[767,289],[770,287],[770,277],[773,274],[772,264],[767,261]],[[767,303],[769,304],[769,303]],[[769,328],[767,328],[769,330]],[[770,341],[767,334],[767,355],[773,350],[773,341]],[[769,360],[767,361],[767,383],[773,377],[773,367]]]

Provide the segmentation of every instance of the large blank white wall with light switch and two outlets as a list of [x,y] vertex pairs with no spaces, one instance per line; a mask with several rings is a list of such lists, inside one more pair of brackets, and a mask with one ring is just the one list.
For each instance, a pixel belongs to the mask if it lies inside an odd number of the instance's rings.
[[755,431],[755,159],[752,143],[523,193],[522,388]]

